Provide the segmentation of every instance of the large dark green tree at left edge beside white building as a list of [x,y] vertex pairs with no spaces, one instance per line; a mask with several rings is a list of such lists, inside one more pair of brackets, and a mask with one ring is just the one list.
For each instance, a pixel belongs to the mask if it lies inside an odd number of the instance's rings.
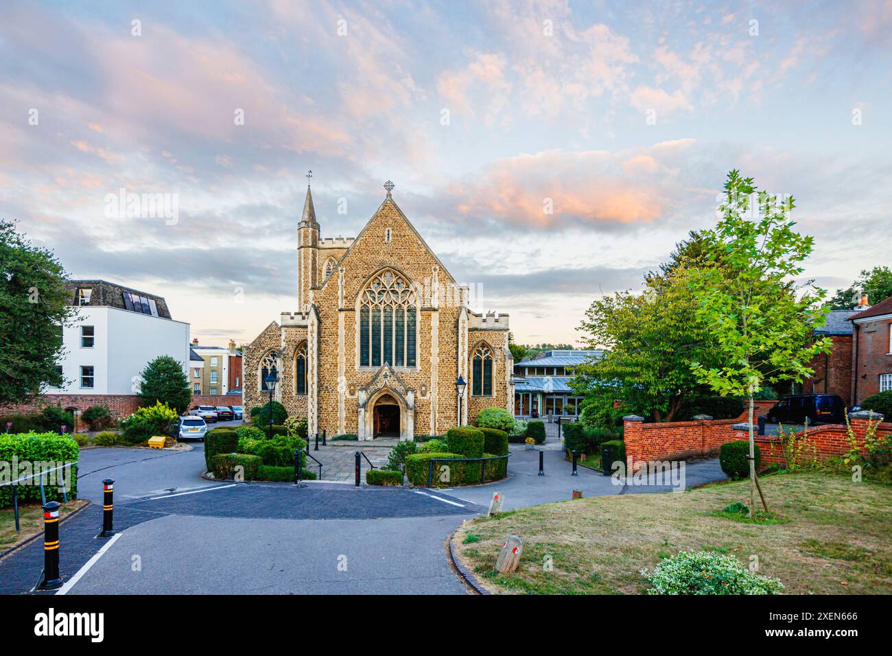
[[55,367],[62,328],[77,312],[66,278],[53,253],[0,221],[0,405],[29,401],[41,386],[64,385]]

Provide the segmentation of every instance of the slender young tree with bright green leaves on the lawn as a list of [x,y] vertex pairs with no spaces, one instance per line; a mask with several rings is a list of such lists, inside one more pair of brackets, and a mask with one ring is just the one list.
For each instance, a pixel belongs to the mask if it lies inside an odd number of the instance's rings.
[[[791,282],[802,273],[801,262],[812,253],[814,238],[793,230],[792,197],[779,202],[777,195],[760,192],[754,208],[758,218],[748,220],[756,188],[738,170],[728,174],[719,207],[723,218],[706,235],[710,258],[723,265],[695,270],[690,280],[700,299],[698,319],[727,355],[722,366],[696,360],[691,370],[719,394],[749,400],[750,516],[756,505],[754,397],[766,381],[812,376],[809,362],[830,351],[829,338],[813,335],[826,318],[824,290],[811,282],[794,288]],[[762,502],[768,510],[764,496]]]

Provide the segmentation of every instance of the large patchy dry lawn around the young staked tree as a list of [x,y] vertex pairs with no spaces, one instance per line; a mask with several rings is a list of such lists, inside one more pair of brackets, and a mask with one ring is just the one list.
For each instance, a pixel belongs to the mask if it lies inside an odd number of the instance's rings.
[[[785,594],[892,594],[892,487],[815,471],[760,480],[775,514],[755,521],[723,513],[748,502],[749,483],[740,481],[471,519],[455,546],[498,594],[642,594],[649,584],[640,569],[681,550],[732,553],[745,566],[756,554],[759,573],[780,578]],[[524,540],[520,568],[495,574],[509,534]]]

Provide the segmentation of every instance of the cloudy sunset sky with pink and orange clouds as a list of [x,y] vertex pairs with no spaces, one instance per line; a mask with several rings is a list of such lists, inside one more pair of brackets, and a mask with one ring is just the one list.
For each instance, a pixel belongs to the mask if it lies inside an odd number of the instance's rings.
[[310,169],[325,237],[392,179],[522,343],[639,288],[731,168],[796,196],[822,286],[892,261],[889,0],[2,4],[0,217],[202,343],[296,310]]

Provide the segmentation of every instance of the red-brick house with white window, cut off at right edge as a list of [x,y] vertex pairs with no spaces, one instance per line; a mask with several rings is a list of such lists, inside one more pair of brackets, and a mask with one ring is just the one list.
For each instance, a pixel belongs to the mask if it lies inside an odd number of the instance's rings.
[[892,296],[848,320],[854,329],[852,399],[859,404],[892,390]]

